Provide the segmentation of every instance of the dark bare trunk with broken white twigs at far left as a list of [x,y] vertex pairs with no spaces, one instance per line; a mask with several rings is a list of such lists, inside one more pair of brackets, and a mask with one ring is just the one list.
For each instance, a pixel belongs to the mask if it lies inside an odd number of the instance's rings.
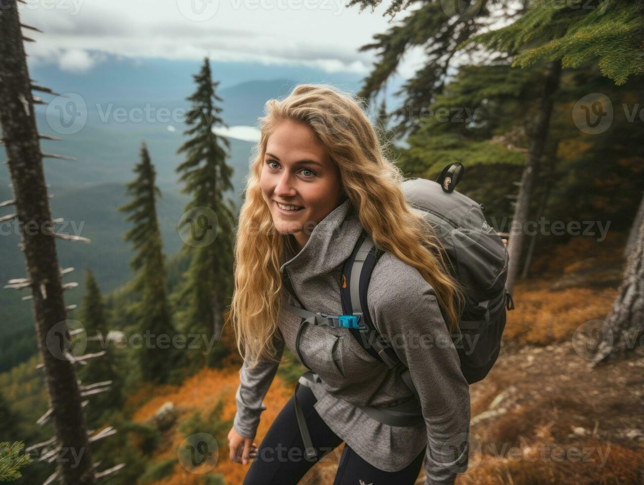
[[68,350],[61,348],[61,337],[64,338],[66,331],[66,324],[61,322],[67,315],[15,0],[5,0],[0,8],[0,41],[3,49],[0,55],[0,125],[33,295],[38,347],[43,357],[57,445],[63,452],[73,450],[79,456],[77,463],[69,459],[59,461],[61,477],[66,485],[91,485],[94,470],[81,393],[72,363],[61,358],[62,351]]

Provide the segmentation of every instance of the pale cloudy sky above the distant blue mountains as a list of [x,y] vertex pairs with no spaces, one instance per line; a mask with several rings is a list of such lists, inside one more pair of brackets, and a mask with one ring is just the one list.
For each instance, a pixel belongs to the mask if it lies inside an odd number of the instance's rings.
[[[21,21],[43,30],[27,44],[30,62],[81,73],[106,54],[170,60],[292,64],[328,73],[369,72],[375,52],[358,52],[393,21],[348,7],[348,0],[25,0]],[[415,7],[413,7],[415,8]],[[413,10],[412,8],[412,10]],[[27,35],[38,40],[39,33]],[[422,51],[403,59],[399,75],[419,68]]]

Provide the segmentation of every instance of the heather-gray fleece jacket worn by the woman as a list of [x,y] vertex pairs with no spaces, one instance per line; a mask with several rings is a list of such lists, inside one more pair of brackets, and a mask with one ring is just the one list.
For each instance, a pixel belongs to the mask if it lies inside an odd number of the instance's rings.
[[[297,254],[285,250],[281,266],[307,310],[342,314],[340,280],[343,262],[354,249],[362,227],[346,199],[314,227]],[[290,304],[298,306],[289,298]],[[300,350],[319,382],[300,379],[317,398],[317,413],[360,457],[384,471],[399,471],[428,445],[426,485],[453,483],[467,462],[469,387],[459,357],[440,314],[434,290],[417,269],[390,253],[377,262],[368,290],[368,307],[377,330],[410,369],[421,399],[424,426],[379,423],[356,406],[395,406],[413,398],[403,379],[362,348],[348,328],[307,325]],[[283,310],[274,343],[281,357],[287,345],[298,358],[295,340],[301,318]],[[277,363],[242,366],[236,393],[234,428],[254,437],[263,399]],[[315,442],[316,437],[311,439]]]

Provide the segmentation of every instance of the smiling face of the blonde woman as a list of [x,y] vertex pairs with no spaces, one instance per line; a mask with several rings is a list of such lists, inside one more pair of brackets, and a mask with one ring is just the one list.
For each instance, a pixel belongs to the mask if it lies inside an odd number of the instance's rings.
[[[306,124],[292,121],[281,122],[269,137],[260,186],[275,228],[293,234],[299,249],[342,195],[339,170],[325,146]],[[287,210],[278,204],[301,208]]]

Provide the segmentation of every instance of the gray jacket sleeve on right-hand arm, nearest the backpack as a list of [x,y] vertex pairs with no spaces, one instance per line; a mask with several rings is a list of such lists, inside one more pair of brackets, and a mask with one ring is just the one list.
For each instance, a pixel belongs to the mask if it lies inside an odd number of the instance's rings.
[[452,484],[468,463],[469,385],[433,288],[417,269],[396,269],[388,267],[386,285],[373,292],[370,285],[370,316],[419,394],[427,430],[425,484]]

